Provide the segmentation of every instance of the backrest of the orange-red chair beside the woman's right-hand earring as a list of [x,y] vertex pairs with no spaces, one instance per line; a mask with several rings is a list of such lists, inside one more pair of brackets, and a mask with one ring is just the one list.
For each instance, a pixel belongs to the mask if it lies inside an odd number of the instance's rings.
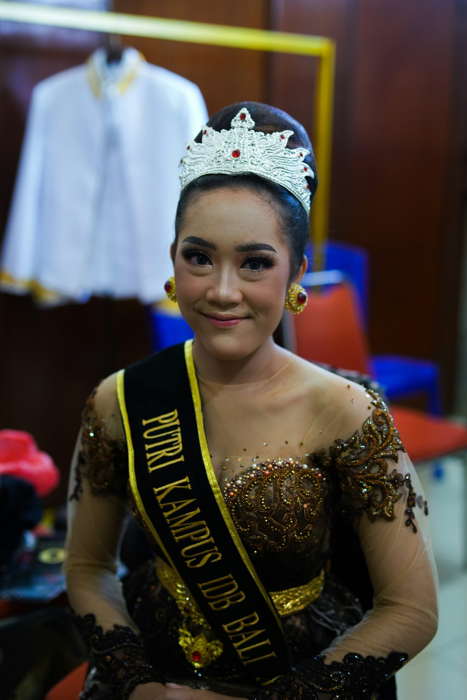
[[351,283],[309,290],[308,304],[294,321],[300,357],[373,376],[363,317]]

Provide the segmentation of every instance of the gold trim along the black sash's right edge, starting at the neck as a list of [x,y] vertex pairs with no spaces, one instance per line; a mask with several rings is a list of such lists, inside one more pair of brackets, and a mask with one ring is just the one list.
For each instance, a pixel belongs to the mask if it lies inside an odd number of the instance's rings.
[[[219,510],[222,513],[223,519],[225,520],[225,524],[228,527],[228,531],[230,532],[230,536],[232,537],[232,540],[235,544],[235,547],[237,547],[238,552],[240,556],[242,556],[242,559],[244,561],[244,564],[246,568],[249,570],[249,573],[251,577],[253,577],[254,582],[258,586],[258,589],[260,590],[260,593],[263,595],[263,598],[265,598],[265,601],[267,605],[269,605],[269,608],[276,618],[276,622],[279,625],[279,629],[282,629],[282,623],[279,615],[277,615],[277,610],[274,608],[274,605],[272,605],[270,596],[268,596],[265,587],[260,581],[260,578],[258,577],[258,574],[256,573],[256,570],[251,563],[251,560],[246,553],[246,549],[244,548],[243,542],[239,537],[239,534],[237,532],[237,528],[235,527],[235,524],[232,520],[232,516],[230,515],[230,512],[228,511],[227,505],[225,505],[225,500],[222,495],[222,491],[219,487],[219,484],[217,483],[216,475],[214,473],[214,467],[211,462],[211,456],[209,454],[209,447],[207,444],[207,438],[206,438],[206,433],[204,432],[204,421],[203,421],[203,414],[202,414],[202,407],[201,407],[201,397],[200,397],[200,388],[198,387],[198,382],[197,382],[197,377],[196,377],[196,370],[195,370],[195,363],[193,362],[193,339],[192,340],[187,340],[185,342],[185,361],[186,361],[186,368],[188,370],[188,379],[190,379],[190,388],[191,388],[191,393],[193,397],[193,406],[195,407],[195,416],[196,416],[196,425],[197,425],[197,430],[198,430],[198,438],[200,440],[200,447],[201,447],[201,454],[202,454],[202,459],[204,462],[204,468],[206,469],[207,477],[209,479],[209,484],[211,485],[212,492],[214,493],[214,496],[216,497],[216,502],[219,507]],[[284,633],[284,631],[283,631]]]

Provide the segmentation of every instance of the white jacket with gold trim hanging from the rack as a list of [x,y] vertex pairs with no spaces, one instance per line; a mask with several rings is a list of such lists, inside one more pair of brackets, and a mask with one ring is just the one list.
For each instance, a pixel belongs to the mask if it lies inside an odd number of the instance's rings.
[[0,286],[42,303],[92,294],[165,298],[186,141],[207,120],[200,89],[126,48],[32,94]]

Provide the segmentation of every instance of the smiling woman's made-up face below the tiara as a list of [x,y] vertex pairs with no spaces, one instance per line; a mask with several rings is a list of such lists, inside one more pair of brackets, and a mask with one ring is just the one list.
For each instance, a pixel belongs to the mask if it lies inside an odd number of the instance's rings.
[[188,204],[174,259],[179,307],[216,358],[256,351],[284,311],[290,253],[274,209],[247,188],[218,188]]

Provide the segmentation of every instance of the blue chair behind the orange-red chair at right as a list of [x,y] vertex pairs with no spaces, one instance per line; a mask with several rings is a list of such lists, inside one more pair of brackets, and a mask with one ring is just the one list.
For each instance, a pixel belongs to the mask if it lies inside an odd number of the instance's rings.
[[[312,258],[312,246],[307,257]],[[341,270],[351,279],[361,302],[363,317],[368,321],[368,253],[364,248],[328,241],[325,249],[325,269]],[[375,379],[384,386],[389,399],[408,398],[417,393],[428,394],[430,413],[442,413],[440,373],[438,365],[429,360],[402,355],[373,355]]]

